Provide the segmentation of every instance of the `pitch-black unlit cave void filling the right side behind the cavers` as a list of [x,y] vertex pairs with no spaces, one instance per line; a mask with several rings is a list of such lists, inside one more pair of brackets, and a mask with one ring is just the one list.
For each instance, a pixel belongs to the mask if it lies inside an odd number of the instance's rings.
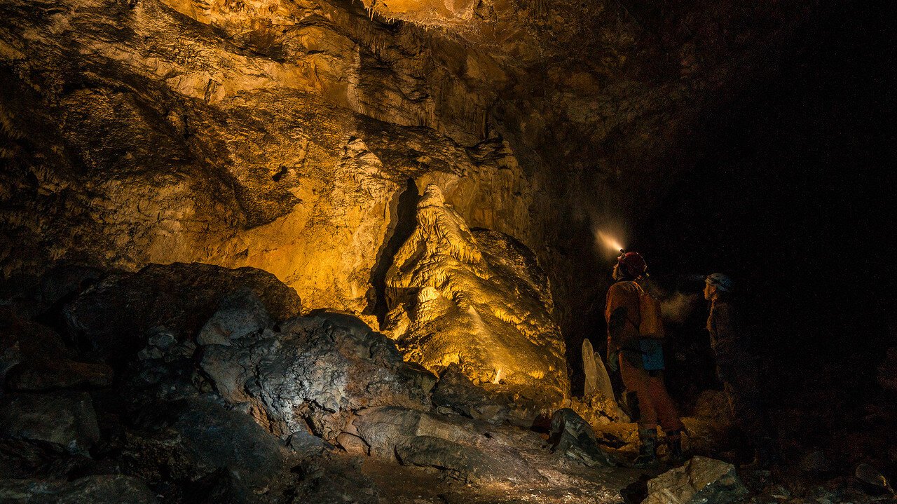
[[[830,471],[897,469],[881,428],[894,395],[875,381],[897,329],[893,11],[845,3],[807,23],[769,78],[705,118],[711,148],[631,245],[666,291],[734,278],[783,455],[818,450]],[[699,302],[667,335],[681,404],[718,387],[706,317]]]

